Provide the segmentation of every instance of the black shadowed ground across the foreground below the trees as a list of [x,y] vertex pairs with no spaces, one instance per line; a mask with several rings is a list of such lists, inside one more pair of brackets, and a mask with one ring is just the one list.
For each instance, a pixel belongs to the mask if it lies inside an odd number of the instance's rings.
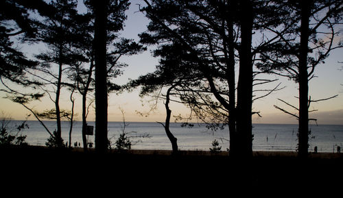
[[197,195],[210,192],[213,193],[210,197],[216,197],[216,193],[238,189],[244,194],[268,195],[278,191],[276,197],[285,193],[292,195],[292,192],[298,195],[301,191],[339,193],[340,196],[343,192],[340,153],[312,154],[307,160],[301,160],[296,153],[259,152],[243,160],[230,158],[227,153],[211,155],[204,151],[184,151],[178,156],[171,155],[170,151],[99,155],[78,149],[27,147],[1,148],[0,156],[2,191],[15,188],[24,190],[14,190],[14,193],[39,195],[47,190],[48,194],[44,195],[49,196],[45,197],[72,191],[87,194],[99,188],[98,193],[157,193],[161,197],[180,192],[183,193],[177,197],[184,197],[181,195],[186,192]]

